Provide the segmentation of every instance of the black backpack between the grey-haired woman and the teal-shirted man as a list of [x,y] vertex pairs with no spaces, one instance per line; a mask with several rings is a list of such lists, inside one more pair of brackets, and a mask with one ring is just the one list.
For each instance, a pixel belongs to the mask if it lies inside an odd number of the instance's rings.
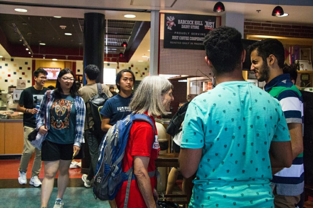
[[182,121],[184,121],[185,114],[187,111],[187,107],[189,105],[190,101],[186,102],[184,105],[182,105],[178,111],[175,113],[175,115],[172,117],[171,121],[168,123],[168,126],[166,128],[166,132],[171,135],[175,136],[179,131],[182,131],[180,129],[180,126],[182,125]]

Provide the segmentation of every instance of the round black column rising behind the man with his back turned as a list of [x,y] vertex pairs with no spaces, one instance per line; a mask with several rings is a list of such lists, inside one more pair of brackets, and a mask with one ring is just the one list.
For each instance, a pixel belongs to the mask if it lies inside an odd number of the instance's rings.
[[[95,64],[100,69],[96,82],[103,83],[105,15],[100,13],[85,13],[84,15],[84,69],[89,64]],[[84,71],[85,74],[85,71]],[[85,85],[84,76],[84,85]]]

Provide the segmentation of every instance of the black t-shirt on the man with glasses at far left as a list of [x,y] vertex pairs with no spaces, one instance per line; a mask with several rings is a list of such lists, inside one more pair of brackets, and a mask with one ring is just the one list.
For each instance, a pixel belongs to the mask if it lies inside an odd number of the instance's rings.
[[[22,91],[18,104],[24,106],[25,108],[33,109],[36,107],[37,103],[41,102],[44,97],[44,93],[47,90],[49,90],[47,87],[44,87],[42,90],[36,90],[33,86],[28,87]],[[36,128],[35,115],[31,113],[24,113],[23,124],[24,126]]]

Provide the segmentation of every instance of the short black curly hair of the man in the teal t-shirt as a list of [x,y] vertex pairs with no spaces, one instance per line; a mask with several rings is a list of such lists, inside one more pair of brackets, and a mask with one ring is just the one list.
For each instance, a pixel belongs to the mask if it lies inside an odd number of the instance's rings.
[[241,33],[235,28],[218,27],[204,37],[203,43],[216,73],[232,72],[240,66],[243,46]]

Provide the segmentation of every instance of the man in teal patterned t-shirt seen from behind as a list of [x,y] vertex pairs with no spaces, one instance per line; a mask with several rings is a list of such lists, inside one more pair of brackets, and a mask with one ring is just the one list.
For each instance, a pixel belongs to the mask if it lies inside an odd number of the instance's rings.
[[218,27],[204,46],[217,86],[190,102],[182,127],[180,170],[196,173],[189,207],[274,207],[271,167],[292,163],[280,103],[244,81],[240,32]]

